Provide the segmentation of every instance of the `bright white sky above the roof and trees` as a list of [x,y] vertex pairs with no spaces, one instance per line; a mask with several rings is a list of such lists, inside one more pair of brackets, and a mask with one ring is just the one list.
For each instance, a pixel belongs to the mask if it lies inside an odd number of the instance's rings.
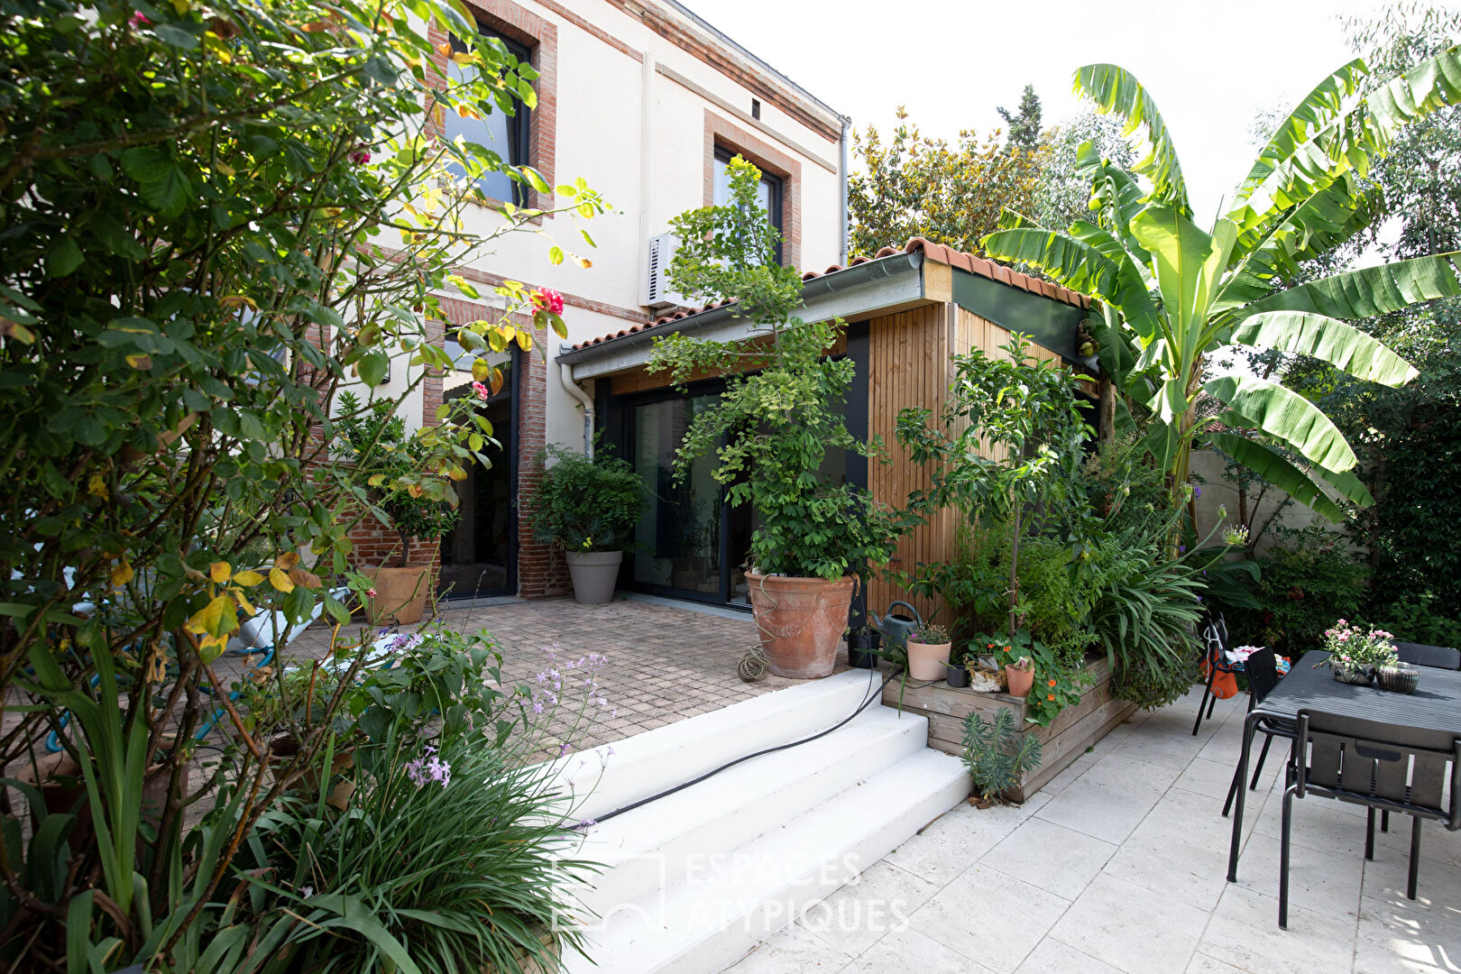
[[1071,73],[1121,64],[1172,129],[1208,225],[1242,181],[1254,115],[1292,107],[1353,54],[1340,19],[1372,0],[684,0],[773,67],[880,130],[909,110],[923,134],[1001,126],[1026,83],[1046,126],[1080,111]]

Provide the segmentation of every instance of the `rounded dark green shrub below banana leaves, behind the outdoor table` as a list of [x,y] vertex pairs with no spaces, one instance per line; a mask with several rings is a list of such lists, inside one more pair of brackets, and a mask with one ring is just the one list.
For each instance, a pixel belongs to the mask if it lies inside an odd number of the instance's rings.
[[1275,532],[1280,545],[1259,555],[1262,577],[1252,586],[1262,607],[1236,613],[1229,626],[1235,638],[1297,659],[1319,647],[1335,619],[1360,615],[1369,572],[1343,534],[1318,526]]

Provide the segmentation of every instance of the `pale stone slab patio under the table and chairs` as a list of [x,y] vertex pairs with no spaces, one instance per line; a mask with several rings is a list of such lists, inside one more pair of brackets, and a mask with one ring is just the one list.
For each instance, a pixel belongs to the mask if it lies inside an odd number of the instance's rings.
[[1363,809],[1296,800],[1278,929],[1283,742],[1226,881],[1245,707],[1218,701],[1195,737],[1197,694],[1138,713],[1024,806],[948,812],[726,974],[1461,971],[1461,834],[1436,822],[1411,902],[1408,819],[1365,862]]

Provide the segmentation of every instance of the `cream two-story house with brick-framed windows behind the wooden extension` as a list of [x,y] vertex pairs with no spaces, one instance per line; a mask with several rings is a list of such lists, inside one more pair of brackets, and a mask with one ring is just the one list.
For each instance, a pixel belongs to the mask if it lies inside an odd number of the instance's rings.
[[[674,311],[678,298],[668,294],[669,253],[660,235],[671,218],[723,193],[726,161],[736,153],[764,174],[763,200],[783,235],[782,260],[818,270],[844,263],[850,121],[674,0],[466,6],[482,34],[501,38],[541,73],[538,104],[516,117],[449,115],[444,134],[460,133],[530,165],[549,185],[583,177],[612,207],[589,225],[596,248],[581,250],[592,267],[549,264],[541,238],[514,234],[460,269],[463,277],[488,285],[482,294],[507,279],[561,292],[568,340],[560,345],[557,336],[539,333],[533,352],[497,356],[510,378],[484,409],[503,450],[492,469],[473,469],[457,485],[462,517],[441,540],[441,584],[453,596],[545,596],[567,586],[561,556],[536,543],[527,527],[535,456],[548,442],[584,447],[598,391],[592,380],[568,378],[558,352]],[[434,41],[450,50],[453,39],[443,32]],[[444,54],[440,67],[460,70]],[[492,199],[552,206],[549,194],[489,178],[497,183],[482,190]],[[482,221],[475,229],[498,219],[485,207],[473,216]],[[545,216],[542,228],[565,247],[577,242],[568,218]],[[501,314],[489,299],[443,298],[447,342],[451,324]],[[409,381],[409,369],[397,371],[397,381]],[[469,394],[469,383],[465,371],[428,377],[406,402],[408,421],[435,422],[443,399]],[[383,532],[358,534],[362,559],[384,555],[390,540]]]

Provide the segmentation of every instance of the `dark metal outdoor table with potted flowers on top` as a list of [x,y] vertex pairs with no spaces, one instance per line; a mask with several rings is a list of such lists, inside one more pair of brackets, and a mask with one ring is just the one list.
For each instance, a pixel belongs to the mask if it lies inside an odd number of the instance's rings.
[[1420,667],[1414,694],[1392,694],[1378,686],[1341,683],[1330,673],[1328,653],[1311,650],[1299,657],[1289,675],[1248,711],[1243,721],[1243,752],[1237,759],[1237,802],[1233,810],[1233,845],[1227,853],[1227,882],[1237,882],[1237,847],[1243,831],[1243,796],[1248,791],[1248,749],[1254,727],[1262,720],[1297,721],[1300,710],[1321,710],[1376,720],[1397,727],[1443,730],[1461,737],[1461,670]]

